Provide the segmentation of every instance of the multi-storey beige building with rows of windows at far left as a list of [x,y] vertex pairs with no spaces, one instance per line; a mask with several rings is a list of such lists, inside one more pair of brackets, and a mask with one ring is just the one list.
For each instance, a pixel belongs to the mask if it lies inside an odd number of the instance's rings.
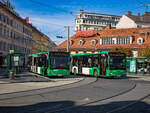
[[28,55],[32,53],[32,27],[28,19],[22,19],[10,6],[0,2],[0,60],[6,65],[10,50]]

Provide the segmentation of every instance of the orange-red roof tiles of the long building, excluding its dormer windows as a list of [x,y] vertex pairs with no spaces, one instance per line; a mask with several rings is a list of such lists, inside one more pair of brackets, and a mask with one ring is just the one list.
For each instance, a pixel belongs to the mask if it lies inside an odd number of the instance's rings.
[[[139,48],[139,47],[147,47],[150,46],[150,35],[148,35],[147,40],[144,41],[143,44],[137,44],[137,39],[139,37],[142,37],[145,39],[145,34],[140,33],[141,31],[149,30],[150,27],[143,27],[143,28],[128,28],[128,29],[105,29],[100,31],[94,31],[93,35],[90,31],[89,37],[83,37],[79,36],[78,33],[73,35],[70,40],[73,40],[73,44],[70,45],[70,49],[104,49],[104,48],[119,48],[119,47],[125,47],[125,48]],[[95,35],[100,34],[100,35]],[[113,45],[100,45],[100,38],[101,37],[113,37],[113,36],[133,36],[134,40],[132,44],[113,44]],[[95,46],[92,46],[91,41],[93,39],[97,40],[97,43]],[[84,40],[85,43],[80,46],[79,41]],[[66,49],[67,47],[67,41],[62,42],[60,45],[56,47],[56,49]]]

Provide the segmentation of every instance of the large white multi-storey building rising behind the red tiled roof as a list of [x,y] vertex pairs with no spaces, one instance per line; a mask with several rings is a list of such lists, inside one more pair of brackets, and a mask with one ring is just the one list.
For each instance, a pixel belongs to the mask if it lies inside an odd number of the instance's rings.
[[116,28],[120,16],[89,13],[80,10],[75,19],[75,31],[101,30],[106,29],[106,25]]

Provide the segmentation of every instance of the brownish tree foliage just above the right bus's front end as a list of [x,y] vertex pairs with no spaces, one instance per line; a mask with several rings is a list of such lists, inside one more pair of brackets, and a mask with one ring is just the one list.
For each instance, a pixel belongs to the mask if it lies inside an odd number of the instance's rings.
[[130,48],[113,48],[112,52],[123,52],[126,54],[127,57],[133,56],[132,49]]

